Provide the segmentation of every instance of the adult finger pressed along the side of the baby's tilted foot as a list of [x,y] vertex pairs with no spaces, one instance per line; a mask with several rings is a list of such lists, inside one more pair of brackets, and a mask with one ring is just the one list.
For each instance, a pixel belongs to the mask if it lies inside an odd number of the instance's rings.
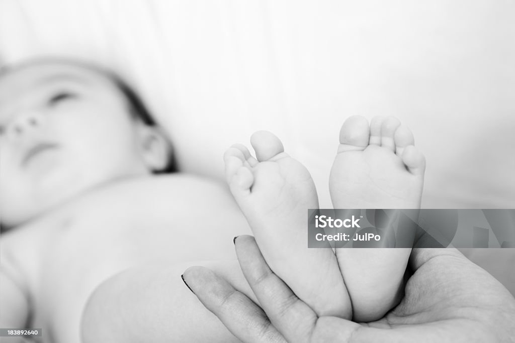
[[238,236],[235,245],[243,274],[272,325],[290,342],[310,341],[316,313],[273,274],[252,236]]

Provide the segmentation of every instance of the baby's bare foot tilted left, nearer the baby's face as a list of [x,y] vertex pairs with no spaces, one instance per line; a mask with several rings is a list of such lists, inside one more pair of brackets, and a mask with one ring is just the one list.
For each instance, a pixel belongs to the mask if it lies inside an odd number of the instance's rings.
[[307,247],[307,209],[318,208],[310,173],[269,132],[254,133],[251,144],[257,159],[234,145],[224,160],[231,192],[264,258],[318,315],[350,318],[350,299],[333,250]]

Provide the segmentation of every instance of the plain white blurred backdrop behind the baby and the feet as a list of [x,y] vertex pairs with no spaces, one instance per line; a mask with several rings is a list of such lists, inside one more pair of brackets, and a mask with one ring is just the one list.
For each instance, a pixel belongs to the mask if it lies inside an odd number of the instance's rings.
[[[395,115],[426,155],[424,208],[515,208],[514,13],[503,0],[0,0],[0,64],[117,71],[183,172],[223,180],[225,149],[272,131],[322,208],[341,123]],[[515,284],[514,255],[478,263]]]

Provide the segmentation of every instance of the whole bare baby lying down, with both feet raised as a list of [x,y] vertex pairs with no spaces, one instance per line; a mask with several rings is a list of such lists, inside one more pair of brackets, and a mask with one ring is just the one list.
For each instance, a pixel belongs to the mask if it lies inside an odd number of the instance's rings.
[[[232,260],[204,265],[255,300],[228,239],[248,224],[219,185],[155,175],[169,144],[121,80],[74,62],[8,70],[0,135],[0,210],[13,227],[1,241],[0,327],[43,328],[47,342],[79,342],[81,321],[86,342],[236,340],[180,275],[190,261]],[[274,272],[318,314],[388,311],[409,249],[307,249],[309,173],[270,133],[251,142],[257,159],[243,146],[226,153],[227,179]],[[335,208],[419,208],[424,160],[397,119],[351,117],[340,142]]]

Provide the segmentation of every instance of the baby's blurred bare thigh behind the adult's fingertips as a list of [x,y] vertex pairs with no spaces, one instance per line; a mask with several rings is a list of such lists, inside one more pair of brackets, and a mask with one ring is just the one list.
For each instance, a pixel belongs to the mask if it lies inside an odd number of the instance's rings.
[[135,267],[111,277],[90,297],[83,342],[239,341],[182,281],[193,265],[209,267],[256,301],[235,260]]

